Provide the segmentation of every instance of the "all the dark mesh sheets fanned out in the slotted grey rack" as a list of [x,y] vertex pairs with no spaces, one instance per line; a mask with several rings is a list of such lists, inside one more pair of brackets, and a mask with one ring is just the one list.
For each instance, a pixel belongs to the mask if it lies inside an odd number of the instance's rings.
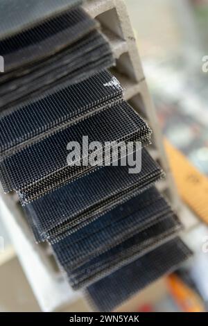
[[[123,100],[106,70],[110,45],[78,4],[52,1],[44,14],[38,7],[31,19],[0,23],[0,178],[5,192],[19,194],[36,241],[50,243],[73,289],[108,311],[191,252],[155,188],[164,173],[145,148],[151,130]],[[68,144],[83,137],[87,147],[69,164]],[[101,144],[96,164],[92,142]],[[128,158],[138,153],[141,171],[130,173]]]

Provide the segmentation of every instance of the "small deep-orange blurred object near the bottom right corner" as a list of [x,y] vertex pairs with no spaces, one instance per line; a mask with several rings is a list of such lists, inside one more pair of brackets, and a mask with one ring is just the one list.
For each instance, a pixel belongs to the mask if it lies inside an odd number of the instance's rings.
[[172,274],[167,277],[168,289],[177,303],[178,307],[184,312],[205,312],[204,304],[199,295],[185,284],[180,277]]

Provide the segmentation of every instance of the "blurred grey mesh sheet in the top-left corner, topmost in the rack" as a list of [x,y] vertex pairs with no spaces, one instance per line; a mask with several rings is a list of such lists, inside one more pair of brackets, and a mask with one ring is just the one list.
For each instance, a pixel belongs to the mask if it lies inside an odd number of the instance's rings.
[[1,0],[0,40],[32,28],[80,3],[82,0]]

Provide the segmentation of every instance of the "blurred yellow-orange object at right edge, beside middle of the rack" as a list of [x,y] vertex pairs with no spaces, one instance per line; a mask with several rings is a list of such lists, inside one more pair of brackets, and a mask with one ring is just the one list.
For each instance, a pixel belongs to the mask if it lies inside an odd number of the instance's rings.
[[164,145],[180,196],[208,224],[208,178],[165,139]]

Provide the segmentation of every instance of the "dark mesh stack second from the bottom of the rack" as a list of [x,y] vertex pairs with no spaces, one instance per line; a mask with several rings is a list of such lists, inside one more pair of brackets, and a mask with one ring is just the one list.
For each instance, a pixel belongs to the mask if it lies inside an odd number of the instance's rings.
[[181,224],[155,188],[53,243],[74,289],[86,286],[175,237]]

